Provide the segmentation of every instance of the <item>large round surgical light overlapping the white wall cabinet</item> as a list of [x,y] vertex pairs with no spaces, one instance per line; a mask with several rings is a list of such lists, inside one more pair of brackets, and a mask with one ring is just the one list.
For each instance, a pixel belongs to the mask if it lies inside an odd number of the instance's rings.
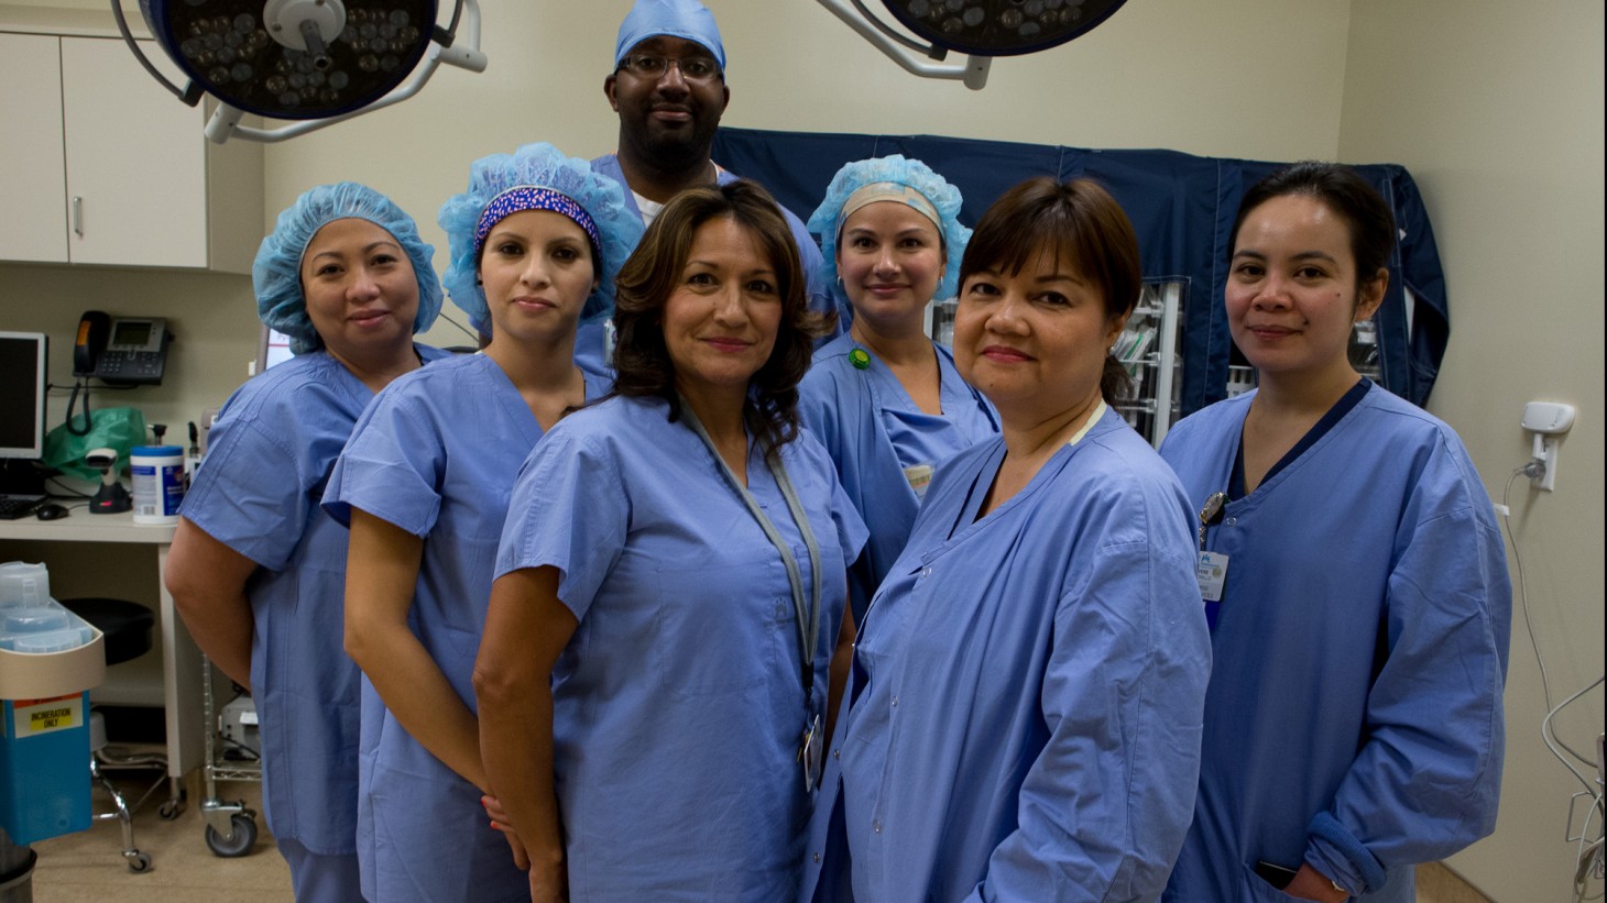
[[[445,29],[435,24],[435,0],[140,0],[140,11],[188,87],[149,64],[129,34],[122,0],[112,0],[117,27],[146,71],[185,103],[217,98],[206,127],[217,143],[281,141],[400,103],[440,63],[485,71],[477,0],[458,0]],[[252,129],[239,124],[244,114],[292,124]]]

